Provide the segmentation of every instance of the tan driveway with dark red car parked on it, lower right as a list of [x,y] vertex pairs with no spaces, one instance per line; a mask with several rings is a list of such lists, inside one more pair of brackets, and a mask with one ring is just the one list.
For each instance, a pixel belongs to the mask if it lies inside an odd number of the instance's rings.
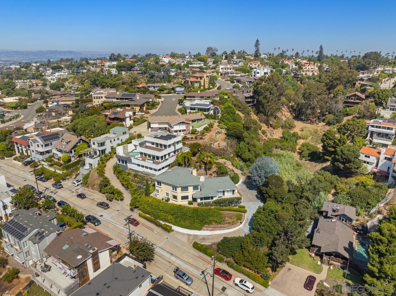
[[[318,282],[326,278],[328,268],[329,266],[324,265],[322,273],[316,274],[312,271],[287,263],[280,273],[272,280],[271,288],[274,288],[286,296],[313,296]],[[312,291],[308,291],[304,288],[304,283],[308,275],[316,277],[316,282]]]

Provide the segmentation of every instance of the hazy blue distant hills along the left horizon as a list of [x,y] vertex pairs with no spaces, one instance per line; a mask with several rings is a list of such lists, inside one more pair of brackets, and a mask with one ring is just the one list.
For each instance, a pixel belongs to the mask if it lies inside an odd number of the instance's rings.
[[59,50],[45,50],[45,51],[1,51],[0,62],[34,62],[44,60],[59,60],[60,58],[96,58],[108,56],[109,53],[100,52],[77,52],[77,51],[59,51]]

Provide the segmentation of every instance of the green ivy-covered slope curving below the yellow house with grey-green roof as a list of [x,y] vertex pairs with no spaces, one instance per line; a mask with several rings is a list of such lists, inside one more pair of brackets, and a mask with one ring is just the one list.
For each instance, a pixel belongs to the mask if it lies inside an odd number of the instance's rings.
[[145,196],[145,190],[138,190],[119,166],[113,166],[113,173],[122,186],[131,192],[130,206],[138,207],[140,211],[154,219],[192,230],[201,230],[205,225],[223,221],[218,209],[176,205],[153,196]]

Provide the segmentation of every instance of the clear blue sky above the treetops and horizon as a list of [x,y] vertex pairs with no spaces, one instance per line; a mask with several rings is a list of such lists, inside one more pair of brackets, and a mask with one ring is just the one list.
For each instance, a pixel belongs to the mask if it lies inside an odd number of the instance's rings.
[[[396,51],[394,0],[3,1],[0,49],[204,53]],[[5,25],[8,24],[8,25]]]

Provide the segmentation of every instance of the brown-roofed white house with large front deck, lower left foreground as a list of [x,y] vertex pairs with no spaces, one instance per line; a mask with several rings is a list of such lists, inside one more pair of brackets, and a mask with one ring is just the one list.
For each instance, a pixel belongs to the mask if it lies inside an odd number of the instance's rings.
[[53,296],[69,296],[109,267],[119,250],[118,241],[92,228],[59,231],[46,256],[32,264],[32,279]]

